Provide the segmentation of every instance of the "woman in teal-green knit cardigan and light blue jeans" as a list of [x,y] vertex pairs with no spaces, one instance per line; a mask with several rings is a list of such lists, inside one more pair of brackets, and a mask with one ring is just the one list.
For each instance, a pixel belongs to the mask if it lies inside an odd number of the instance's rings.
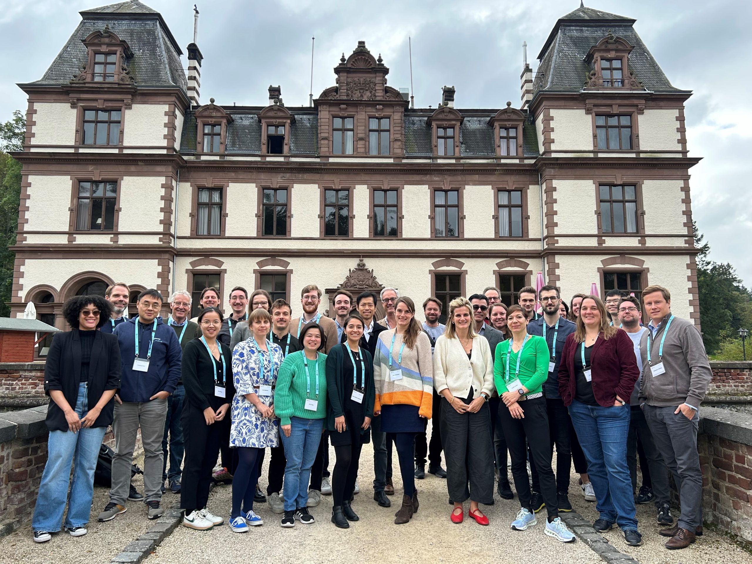
[[308,481],[321,442],[326,417],[326,354],[323,331],[308,323],[300,333],[303,350],[290,353],[280,365],[274,393],[274,413],[280,418],[284,469],[284,517],[281,526],[308,525]]

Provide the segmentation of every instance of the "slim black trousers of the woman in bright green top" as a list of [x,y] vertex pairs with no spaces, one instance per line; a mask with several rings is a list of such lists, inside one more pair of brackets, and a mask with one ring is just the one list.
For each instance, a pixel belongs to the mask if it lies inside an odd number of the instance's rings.
[[517,496],[520,497],[520,505],[532,511],[530,483],[527,476],[527,447],[529,444],[532,460],[538,470],[540,481],[540,493],[546,504],[548,517],[553,519],[559,516],[559,501],[556,497],[556,478],[551,470],[551,444],[548,426],[548,414],[546,399],[544,397],[526,399],[520,402],[525,417],[515,419],[509,413],[504,402],[499,405],[499,419],[502,422],[504,436],[509,447],[509,456],[512,459],[512,477]]

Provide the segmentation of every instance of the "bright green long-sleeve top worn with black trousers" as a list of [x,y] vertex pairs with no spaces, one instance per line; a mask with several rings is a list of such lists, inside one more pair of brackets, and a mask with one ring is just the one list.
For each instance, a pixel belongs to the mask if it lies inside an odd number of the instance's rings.
[[[493,362],[493,382],[496,384],[496,390],[499,396],[508,392],[507,382],[517,378],[517,356],[511,350],[512,339],[507,339],[496,345],[496,354]],[[507,374],[507,356],[509,356],[509,374]],[[538,335],[529,335],[522,349],[522,358],[520,359],[520,383],[526,387],[527,394],[539,393],[542,391],[541,386],[548,378],[548,362],[550,361],[550,352],[548,344],[543,337]]]

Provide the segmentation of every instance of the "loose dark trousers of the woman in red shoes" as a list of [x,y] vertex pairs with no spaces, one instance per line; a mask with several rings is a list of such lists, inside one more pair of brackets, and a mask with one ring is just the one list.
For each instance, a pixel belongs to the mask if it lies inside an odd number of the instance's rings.
[[[472,399],[462,401],[469,404]],[[441,402],[441,440],[450,499],[492,503],[493,444],[488,405],[484,402],[478,413],[459,414],[449,402]]]

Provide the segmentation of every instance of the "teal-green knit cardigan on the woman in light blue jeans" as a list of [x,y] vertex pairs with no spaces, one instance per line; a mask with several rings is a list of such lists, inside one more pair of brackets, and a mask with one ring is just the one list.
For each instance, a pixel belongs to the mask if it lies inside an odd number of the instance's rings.
[[[290,417],[323,419],[326,417],[326,354],[319,353],[319,396],[316,396],[316,363],[308,361],[311,377],[311,392],[307,393],[308,378],[305,377],[305,353],[299,350],[284,359],[277,372],[277,387],[274,390],[274,414],[281,425],[290,425]],[[306,399],[317,399],[316,411],[305,408]]]

